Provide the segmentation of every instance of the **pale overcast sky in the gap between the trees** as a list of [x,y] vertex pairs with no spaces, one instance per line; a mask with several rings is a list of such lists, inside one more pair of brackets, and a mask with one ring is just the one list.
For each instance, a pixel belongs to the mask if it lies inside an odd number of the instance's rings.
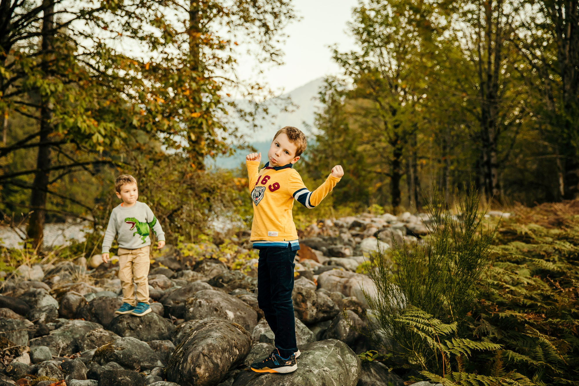
[[[294,0],[300,21],[285,29],[290,35],[282,46],[284,65],[266,69],[259,79],[274,90],[289,92],[313,79],[334,74],[338,65],[331,59],[327,47],[339,44],[342,51],[354,48],[353,39],[346,34],[346,22],[357,0]],[[241,78],[252,78],[255,68],[251,60],[240,60],[237,71]]]

